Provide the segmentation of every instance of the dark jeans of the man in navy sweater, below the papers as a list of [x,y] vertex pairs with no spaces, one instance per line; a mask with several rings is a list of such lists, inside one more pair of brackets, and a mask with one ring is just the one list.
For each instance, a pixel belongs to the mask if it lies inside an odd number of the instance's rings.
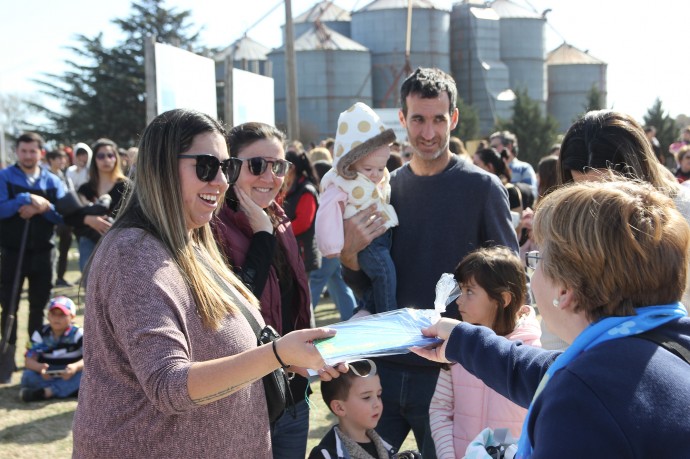
[[429,426],[429,404],[436,390],[439,367],[404,366],[376,360],[381,378],[383,414],[376,432],[396,449],[414,433],[424,459],[435,459],[436,448]]

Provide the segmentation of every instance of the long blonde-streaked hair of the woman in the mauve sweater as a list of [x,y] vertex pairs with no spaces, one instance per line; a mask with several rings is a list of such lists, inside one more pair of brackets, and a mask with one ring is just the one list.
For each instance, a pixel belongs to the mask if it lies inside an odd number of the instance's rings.
[[[187,280],[205,326],[217,328],[228,314],[239,312],[219,281],[233,286],[252,305],[258,301],[226,265],[210,226],[189,236],[178,172],[178,155],[191,148],[194,137],[207,132],[225,138],[225,130],[203,113],[175,109],[158,115],[139,142],[134,186],[114,227],[140,227],[166,246]],[[222,197],[218,203],[222,207]]]

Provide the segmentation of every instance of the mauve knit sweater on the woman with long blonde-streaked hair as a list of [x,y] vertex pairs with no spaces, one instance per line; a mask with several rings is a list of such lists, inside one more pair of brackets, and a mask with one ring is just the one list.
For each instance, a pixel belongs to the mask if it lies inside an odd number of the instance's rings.
[[74,457],[272,456],[261,381],[204,406],[189,398],[193,362],[251,349],[256,337],[241,314],[205,328],[160,241],[110,231],[94,254],[85,309]]

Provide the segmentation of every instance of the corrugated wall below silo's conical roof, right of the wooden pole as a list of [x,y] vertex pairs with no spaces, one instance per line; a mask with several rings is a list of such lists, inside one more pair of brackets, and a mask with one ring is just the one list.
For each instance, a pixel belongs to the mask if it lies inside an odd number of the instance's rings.
[[301,139],[305,145],[335,135],[340,112],[355,102],[372,104],[368,51],[297,53]]

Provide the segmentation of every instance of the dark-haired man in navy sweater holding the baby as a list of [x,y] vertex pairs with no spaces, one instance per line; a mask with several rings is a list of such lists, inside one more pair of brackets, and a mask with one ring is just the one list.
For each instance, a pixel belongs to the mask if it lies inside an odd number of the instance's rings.
[[[458,123],[456,99],[453,78],[433,68],[415,70],[400,91],[400,123],[414,149],[390,182],[391,204],[400,221],[391,247],[400,308],[433,309],[441,274],[453,272],[478,247],[504,245],[518,251],[504,186],[449,149],[450,131]],[[355,291],[367,282],[357,252],[382,234],[382,225],[372,210],[345,222],[341,262]],[[411,429],[422,457],[435,458],[429,403],[439,366],[411,354],[379,359],[377,366],[383,387],[381,437],[399,449]]]

